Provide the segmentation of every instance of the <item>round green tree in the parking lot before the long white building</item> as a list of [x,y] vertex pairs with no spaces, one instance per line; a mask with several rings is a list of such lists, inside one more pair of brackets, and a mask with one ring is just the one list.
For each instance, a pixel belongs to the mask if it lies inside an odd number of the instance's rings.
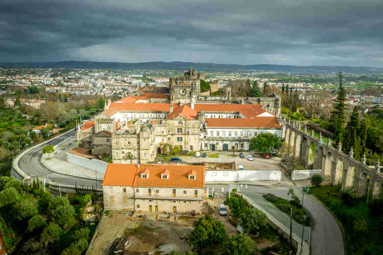
[[250,140],[249,150],[257,152],[269,153],[282,145],[280,138],[276,134],[269,132],[260,133]]

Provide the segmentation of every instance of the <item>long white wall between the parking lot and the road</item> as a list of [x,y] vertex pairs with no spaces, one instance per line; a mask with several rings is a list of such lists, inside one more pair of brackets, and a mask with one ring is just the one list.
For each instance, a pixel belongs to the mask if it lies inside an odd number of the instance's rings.
[[281,180],[280,171],[256,171],[256,170],[238,170],[238,171],[206,171],[205,182],[216,181],[257,181],[257,180]]

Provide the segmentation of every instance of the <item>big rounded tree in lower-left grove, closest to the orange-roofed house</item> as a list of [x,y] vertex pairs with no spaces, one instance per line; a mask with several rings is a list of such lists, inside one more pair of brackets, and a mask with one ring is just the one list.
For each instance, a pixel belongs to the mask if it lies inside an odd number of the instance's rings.
[[48,209],[52,219],[60,226],[66,226],[75,217],[75,209],[66,197],[54,197],[49,202]]

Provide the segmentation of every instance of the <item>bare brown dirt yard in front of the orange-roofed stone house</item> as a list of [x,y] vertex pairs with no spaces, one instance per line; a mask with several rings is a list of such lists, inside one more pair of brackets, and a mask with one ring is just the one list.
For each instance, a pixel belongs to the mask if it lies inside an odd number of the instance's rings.
[[125,253],[148,254],[173,250],[186,252],[191,249],[182,239],[193,231],[194,220],[162,221],[151,215],[145,220],[130,220],[126,212],[104,215],[86,254],[102,255],[117,237],[126,237],[130,243]]

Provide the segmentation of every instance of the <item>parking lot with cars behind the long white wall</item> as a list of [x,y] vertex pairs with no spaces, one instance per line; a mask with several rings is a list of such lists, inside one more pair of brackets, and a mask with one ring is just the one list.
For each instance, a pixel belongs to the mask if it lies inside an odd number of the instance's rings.
[[[254,161],[238,156],[240,153],[235,152],[233,156],[232,152],[208,152],[207,157],[194,157],[194,156],[180,156],[182,161],[187,163],[203,163],[206,162],[235,162],[235,167],[242,165],[246,170],[279,170],[280,157],[270,156],[270,159],[266,159],[261,155],[254,155],[253,152],[243,152],[245,156],[252,155]],[[218,157],[209,157],[209,154],[217,154]],[[202,152],[201,152],[202,155]]]

